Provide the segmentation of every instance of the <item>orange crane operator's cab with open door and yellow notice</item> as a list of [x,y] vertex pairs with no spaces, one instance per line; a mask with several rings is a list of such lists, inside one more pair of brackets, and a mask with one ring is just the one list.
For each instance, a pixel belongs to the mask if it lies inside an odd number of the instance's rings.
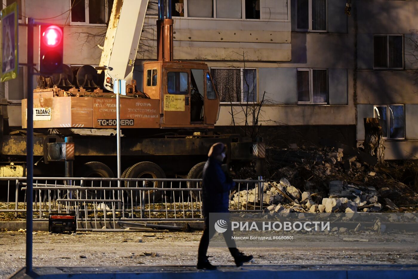
[[161,128],[213,128],[217,120],[219,98],[205,63],[145,63],[143,93],[160,100]]

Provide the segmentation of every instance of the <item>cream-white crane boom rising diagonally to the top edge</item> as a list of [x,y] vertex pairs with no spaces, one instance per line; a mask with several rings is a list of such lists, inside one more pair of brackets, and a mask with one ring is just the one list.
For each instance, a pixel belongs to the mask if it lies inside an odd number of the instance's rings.
[[113,91],[113,80],[132,81],[133,67],[145,20],[148,0],[115,0],[100,58],[103,87]]

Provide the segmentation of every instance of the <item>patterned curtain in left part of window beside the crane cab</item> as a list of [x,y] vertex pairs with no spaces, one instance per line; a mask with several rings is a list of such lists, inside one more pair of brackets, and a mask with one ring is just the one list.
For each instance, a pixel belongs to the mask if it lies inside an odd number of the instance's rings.
[[221,102],[241,101],[240,69],[211,69],[211,75]]

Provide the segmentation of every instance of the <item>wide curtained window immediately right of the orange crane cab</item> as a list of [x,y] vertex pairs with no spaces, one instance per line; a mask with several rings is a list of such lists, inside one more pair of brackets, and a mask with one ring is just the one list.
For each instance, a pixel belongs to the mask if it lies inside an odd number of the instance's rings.
[[256,69],[212,68],[211,74],[221,102],[257,102]]

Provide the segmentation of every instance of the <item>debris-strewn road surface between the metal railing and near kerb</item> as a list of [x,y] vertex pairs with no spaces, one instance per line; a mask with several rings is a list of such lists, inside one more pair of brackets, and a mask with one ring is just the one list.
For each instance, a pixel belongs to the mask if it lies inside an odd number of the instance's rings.
[[[195,265],[201,232],[33,234],[33,266]],[[138,239],[142,242],[139,242]],[[248,265],[417,264],[416,242],[399,245],[342,243],[333,248],[242,248]],[[233,265],[227,248],[209,248],[213,264]],[[0,279],[25,265],[25,233],[0,233]]]

